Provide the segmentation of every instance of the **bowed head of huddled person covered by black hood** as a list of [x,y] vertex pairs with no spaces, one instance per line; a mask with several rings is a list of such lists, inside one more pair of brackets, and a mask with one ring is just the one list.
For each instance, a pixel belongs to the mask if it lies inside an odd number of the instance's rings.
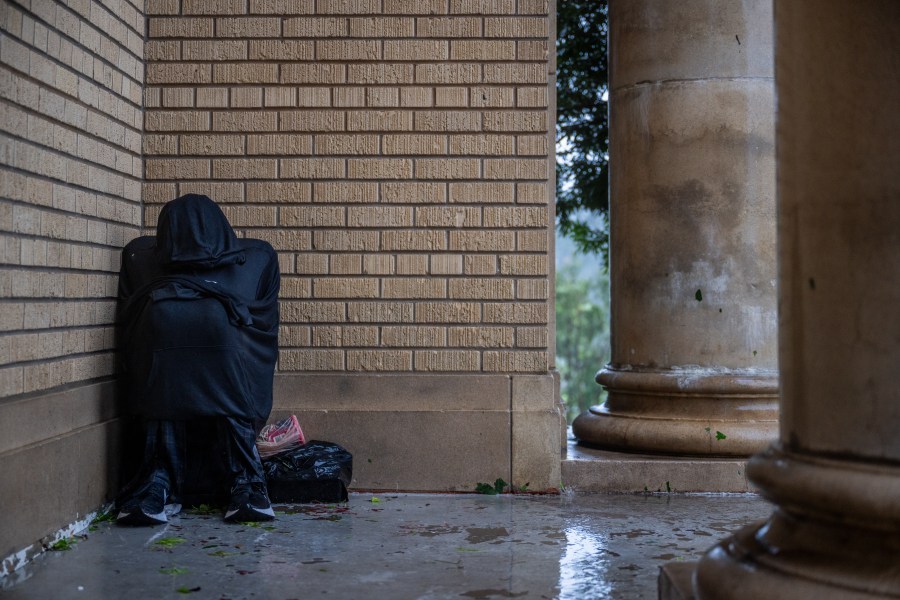
[[167,267],[212,269],[243,263],[225,213],[207,196],[187,194],[167,202],[156,226],[156,252]]

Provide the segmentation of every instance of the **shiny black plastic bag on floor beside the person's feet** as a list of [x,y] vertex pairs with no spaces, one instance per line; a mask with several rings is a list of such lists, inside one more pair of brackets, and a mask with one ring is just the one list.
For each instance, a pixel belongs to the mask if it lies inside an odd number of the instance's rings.
[[345,502],[353,455],[331,442],[308,443],[263,460],[272,502]]

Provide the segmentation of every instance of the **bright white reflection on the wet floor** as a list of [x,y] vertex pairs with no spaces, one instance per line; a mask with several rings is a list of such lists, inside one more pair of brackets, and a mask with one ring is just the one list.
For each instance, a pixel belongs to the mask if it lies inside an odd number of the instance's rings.
[[611,598],[604,579],[609,559],[606,536],[581,525],[566,528],[566,549],[559,560],[559,598]]

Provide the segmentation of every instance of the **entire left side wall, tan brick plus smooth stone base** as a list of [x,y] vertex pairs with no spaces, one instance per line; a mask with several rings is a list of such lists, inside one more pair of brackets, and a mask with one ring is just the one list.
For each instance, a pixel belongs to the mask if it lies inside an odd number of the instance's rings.
[[0,559],[114,485],[113,320],[119,254],[141,223],[143,36],[143,0],[0,2]]

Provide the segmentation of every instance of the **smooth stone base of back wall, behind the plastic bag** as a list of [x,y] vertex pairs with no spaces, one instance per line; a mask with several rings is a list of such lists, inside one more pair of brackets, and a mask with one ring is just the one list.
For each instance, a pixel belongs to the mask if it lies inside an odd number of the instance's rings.
[[279,374],[272,419],[353,453],[353,487],[464,491],[498,477],[559,486],[560,412],[546,375]]

